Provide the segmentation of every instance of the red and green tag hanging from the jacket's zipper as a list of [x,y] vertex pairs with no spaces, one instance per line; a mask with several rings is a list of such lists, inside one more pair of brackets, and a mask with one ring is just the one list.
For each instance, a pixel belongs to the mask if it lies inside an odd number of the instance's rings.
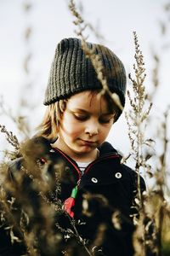
[[75,206],[75,198],[77,197],[77,186],[72,189],[71,191],[71,197],[67,198],[64,202],[64,209],[65,212],[67,212],[71,218],[74,218],[74,212],[72,212],[72,207]]

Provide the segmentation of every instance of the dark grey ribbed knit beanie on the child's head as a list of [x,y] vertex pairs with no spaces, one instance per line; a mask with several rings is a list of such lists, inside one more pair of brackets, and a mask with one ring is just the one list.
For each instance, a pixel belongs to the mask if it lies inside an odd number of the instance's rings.
[[[88,43],[94,47],[103,64],[103,73],[111,92],[120,97],[125,104],[126,73],[122,61],[111,51],[100,44]],[[58,102],[84,90],[102,89],[90,59],[82,50],[82,41],[78,38],[65,38],[57,45],[48,79],[44,105]],[[120,111],[120,114],[122,111]]]

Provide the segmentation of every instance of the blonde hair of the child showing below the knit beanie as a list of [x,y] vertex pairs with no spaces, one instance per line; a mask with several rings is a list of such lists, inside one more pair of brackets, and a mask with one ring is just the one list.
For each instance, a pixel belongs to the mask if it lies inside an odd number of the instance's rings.
[[[95,96],[99,95],[100,90],[91,90],[90,95]],[[108,95],[104,95],[106,102],[108,103],[108,110],[111,113],[114,113],[116,121],[117,117],[119,116],[120,109],[116,106],[116,104],[112,101],[111,97]],[[66,103],[70,98],[59,100],[59,102],[54,102],[48,105],[46,109],[46,113],[42,119],[42,123],[38,125],[37,136],[46,137],[51,142],[54,142],[59,133],[59,121],[62,119],[63,113],[65,112]],[[92,98],[91,98],[92,101]]]

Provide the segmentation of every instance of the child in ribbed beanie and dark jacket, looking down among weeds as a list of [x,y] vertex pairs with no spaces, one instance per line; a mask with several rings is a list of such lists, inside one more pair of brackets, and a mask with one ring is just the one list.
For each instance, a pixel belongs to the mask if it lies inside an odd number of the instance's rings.
[[[99,55],[109,89],[124,106],[126,73],[122,61],[105,46],[88,43],[88,47],[94,47]],[[23,255],[26,248],[31,255],[133,255],[129,216],[135,172],[122,165],[121,155],[105,142],[122,111],[107,93],[101,96],[100,90],[81,40],[63,39],[55,51],[44,100],[47,112],[38,135],[26,143],[22,157],[9,168],[13,189],[6,183],[8,193],[16,199],[16,212],[22,208],[20,215],[25,212],[30,219],[24,235],[15,232],[21,240],[23,236],[29,239],[12,244],[2,231],[1,247],[6,253],[0,255]],[[35,166],[32,178],[29,174]],[[21,177],[23,168],[27,172]],[[44,188],[40,182],[36,185],[38,178],[46,181]],[[144,189],[142,179],[141,186]],[[57,206],[58,211],[48,212],[44,201]],[[52,229],[49,219],[54,220]],[[34,242],[32,234],[36,234]]]

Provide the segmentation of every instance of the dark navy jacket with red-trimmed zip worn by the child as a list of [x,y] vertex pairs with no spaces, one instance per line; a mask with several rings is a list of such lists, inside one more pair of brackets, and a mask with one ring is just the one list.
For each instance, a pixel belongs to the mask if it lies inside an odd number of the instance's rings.
[[[78,186],[75,206],[72,211],[74,212],[78,234],[87,241],[88,249],[97,252],[94,255],[133,256],[132,235],[134,229],[129,215],[132,213],[133,196],[136,190],[136,173],[121,164],[121,156],[112,148],[111,144],[103,143],[101,145],[99,158],[86,167],[83,175],[74,160],[58,148],[52,148],[46,139],[42,137],[34,138],[29,145],[30,148],[27,150],[27,154],[33,152],[35,160],[39,160],[40,165],[48,166],[48,179],[52,184],[50,190],[53,191],[51,198],[50,193],[47,195],[49,201],[55,203],[58,200],[62,204],[71,197],[72,189]],[[15,188],[20,187],[17,182],[20,181],[18,175],[21,172],[21,165],[26,167],[24,157],[14,160],[9,167],[8,178],[11,180],[11,186],[14,185]],[[54,169],[56,170],[58,167],[62,169],[59,174],[60,189],[55,188]],[[21,183],[20,194],[25,198],[28,195],[28,199],[23,201],[23,199],[20,199],[22,197],[18,196],[16,202],[20,207],[24,205],[27,207],[30,203],[34,216],[37,216],[33,218],[30,225],[33,226],[39,223],[40,227],[42,226],[44,229],[45,221],[39,212],[41,197],[37,195],[37,190],[32,185],[30,177],[22,179]],[[145,189],[142,178],[141,188]],[[14,189],[9,189],[8,194],[16,197],[16,194],[13,195],[15,192]],[[45,245],[46,239],[43,240],[42,236],[39,237],[39,234],[41,234],[40,228],[37,232],[39,254],[41,256],[60,256],[63,255],[62,251],[67,251],[71,247],[71,254],[65,255],[88,255],[76,238],[68,238],[69,236],[63,235],[62,229],[69,228],[75,232],[70,224],[71,218],[61,213],[56,221],[61,229],[59,230],[55,226],[53,232],[58,232],[57,234],[60,232],[62,241],[59,241],[54,251],[48,249],[48,246]],[[2,227],[0,230],[0,255],[24,255],[25,244],[14,242],[12,245],[6,233],[8,233],[8,230],[6,231]],[[48,236],[48,234],[45,236]],[[65,240],[65,238],[67,239]]]

